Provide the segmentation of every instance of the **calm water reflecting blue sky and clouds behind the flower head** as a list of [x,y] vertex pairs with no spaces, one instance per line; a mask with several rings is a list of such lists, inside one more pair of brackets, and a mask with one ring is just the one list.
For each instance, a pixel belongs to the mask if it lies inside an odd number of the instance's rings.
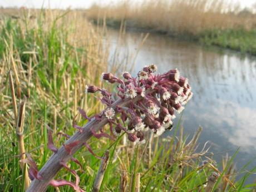
[[[185,108],[182,125],[190,135],[203,127],[199,142],[203,145],[211,141],[210,151],[215,152],[216,161],[220,163],[222,156],[232,155],[240,147],[235,158],[237,168],[250,160],[247,169],[256,166],[255,57],[206,50],[195,43],[160,35],[150,35],[140,48],[141,33],[128,32],[122,41],[116,31],[108,35],[111,52],[114,54],[114,47],[118,47],[119,58],[135,57],[138,52],[136,60],[129,61],[129,65],[134,62],[134,75],[145,65],[155,63],[159,72],[178,68],[182,76],[189,78],[194,96]],[[255,179],[254,175],[250,182]]]

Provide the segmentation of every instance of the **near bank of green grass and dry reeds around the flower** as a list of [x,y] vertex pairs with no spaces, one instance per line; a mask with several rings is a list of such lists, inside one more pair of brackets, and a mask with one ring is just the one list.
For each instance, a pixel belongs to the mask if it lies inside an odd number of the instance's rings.
[[[42,10],[23,12],[18,19],[3,17],[0,33],[0,191],[23,191],[8,70],[12,71],[17,104],[26,100],[25,150],[41,169],[52,155],[47,147],[46,124],[60,147],[66,139],[57,133],[72,135],[76,131],[72,119],[78,106],[88,115],[102,109],[94,97],[85,95],[84,88],[86,84],[102,86],[100,75],[109,65],[109,47],[104,46],[101,33],[78,12]],[[85,123],[80,115],[76,120],[80,125]],[[110,150],[101,191],[120,191],[120,183],[126,184],[126,191],[135,191],[136,175],[140,175],[141,191],[205,191],[207,178],[214,171],[220,174],[214,185],[216,191],[253,191],[255,184],[245,183],[255,170],[247,170],[247,165],[235,170],[235,154],[216,164],[208,146],[196,150],[200,132],[201,129],[194,137],[188,137],[176,125],[168,133],[170,137],[151,138],[140,146],[131,145],[121,136],[116,141],[90,140],[97,155]],[[73,162],[68,166],[80,175],[81,188],[90,191],[100,160],[86,149],[75,157],[83,171]],[[243,176],[235,180],[240,174]],[[57,178],[75,181],[65,170]],[[47,191],[73,189],[63,186]]]

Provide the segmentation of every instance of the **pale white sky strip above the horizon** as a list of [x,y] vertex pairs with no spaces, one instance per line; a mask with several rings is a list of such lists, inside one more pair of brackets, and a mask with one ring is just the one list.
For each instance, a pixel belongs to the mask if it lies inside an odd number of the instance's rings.
[[[143,1],[143,0],[137,0]],[[232,2],[239,2],[242,7],[250,7],[256,3],[256,0],[231,0]],[[110,4],[121,2],[121,0],[0,0],[2,7],[28,7],[41,8],[42,5],[48,8],[88,8],[93,3]]]

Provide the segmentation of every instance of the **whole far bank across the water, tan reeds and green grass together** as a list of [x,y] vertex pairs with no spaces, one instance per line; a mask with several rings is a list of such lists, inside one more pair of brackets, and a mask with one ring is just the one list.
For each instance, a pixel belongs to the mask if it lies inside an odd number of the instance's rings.
[[164,33],[256,55],[256,15],[222,0],[126,1],[92,6],[86,15],[96,24]]

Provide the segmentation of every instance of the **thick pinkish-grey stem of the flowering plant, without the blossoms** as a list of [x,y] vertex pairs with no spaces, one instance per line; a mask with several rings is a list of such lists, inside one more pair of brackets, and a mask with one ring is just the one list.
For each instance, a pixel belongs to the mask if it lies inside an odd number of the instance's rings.
[[[136,97],[135,99],[125,99],[125,100],[117,100],[112,107],[118,106],[127,106],[129,102],[136,102],[137,100],[141,99],[141,97]],[[43,192],[46,191],[47,186],[49,185],[50,181],[55,178],[58,171],[61,170],[63,167],[62,163],[66,163],[68,160],[71,159],[72,155],[83,146],[83,143],[90,139],[92,136],[91,129],[93,128],[95,131],[100,130],[104,125],[108,122],[107,119],[103,119],[101,121],[96,120],[95,117],[91,121],[89,121],[86,125],[82,127],[83,131],[77,131],[70,139],[68,139],[65,145],[68,145],[74,141],[80,141],[80,144],[76,145],[72,148],[71,153],[68,154],[65,147],[62,146],[58,151],[53,154],[50,159],[46,162],[43,168],[39,171],[39,174],[42,176],[42,180],[34,179],[27,189],[27,192]]]

